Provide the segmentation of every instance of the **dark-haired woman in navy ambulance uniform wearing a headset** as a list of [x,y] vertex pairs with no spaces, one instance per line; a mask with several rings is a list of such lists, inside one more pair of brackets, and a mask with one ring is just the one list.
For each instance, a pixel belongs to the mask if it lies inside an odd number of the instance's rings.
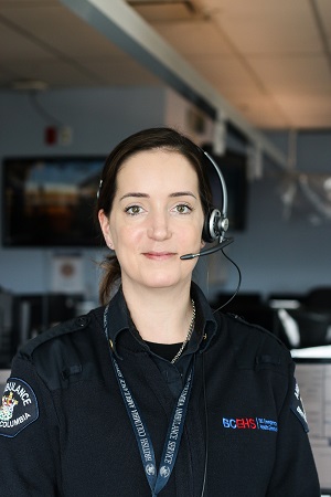
[[211,208],[203,154],[179,133],[147,129],[110,154],[103,306],[14,359],[2,495],[320,495],[287,349],[213,313],[195,260],[180,258],[204,245]]

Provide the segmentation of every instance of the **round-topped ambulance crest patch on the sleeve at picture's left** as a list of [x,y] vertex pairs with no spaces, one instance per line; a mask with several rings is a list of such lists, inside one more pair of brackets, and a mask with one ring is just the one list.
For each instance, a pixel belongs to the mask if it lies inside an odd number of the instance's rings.
[[0,435],[15,436],[38,416],[39,406],[32,388],[19,378],[10,378],[0,406]]

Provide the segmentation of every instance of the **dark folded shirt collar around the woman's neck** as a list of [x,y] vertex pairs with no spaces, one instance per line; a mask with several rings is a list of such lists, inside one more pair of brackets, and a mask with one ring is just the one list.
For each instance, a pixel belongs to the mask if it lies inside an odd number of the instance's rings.
[[[189,342],[188,350],[185,351],[186,353],[195,352],[199,348],[200,351],[205,350],[217,329],[217,321],[213,310],[211,309],[203,292],[193,282],[191,286],[191,296],[195,303],[196,318],[194,327],[195,332]],[[107,335],[110,347],[118,356],[117,339],[119,334],[132,328],[129,309],[127,307],[121,286],[109,303],[107,324]]]

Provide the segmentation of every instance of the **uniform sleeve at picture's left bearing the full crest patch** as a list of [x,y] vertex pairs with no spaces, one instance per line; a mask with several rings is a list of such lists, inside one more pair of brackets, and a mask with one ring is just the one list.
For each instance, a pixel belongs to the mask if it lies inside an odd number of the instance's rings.
[[13,361],[0,408],[0,495],[58,496],[58,423],[33,364]]

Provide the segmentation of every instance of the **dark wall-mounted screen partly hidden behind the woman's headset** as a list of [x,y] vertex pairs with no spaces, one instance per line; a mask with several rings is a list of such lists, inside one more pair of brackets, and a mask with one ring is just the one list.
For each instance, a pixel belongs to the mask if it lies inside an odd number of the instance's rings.
[[[227,190],[228,231],[244,231],[247,225],[248,208],[248,176],[247,157],[244,154],[226,150],[222,156],[213,154],[211,145],[204,145],[205,150],[220,166]],[[212,188],[213,202],[216,209],[223,205],[222,189],[215,168],[206,162],[209,179]]]

